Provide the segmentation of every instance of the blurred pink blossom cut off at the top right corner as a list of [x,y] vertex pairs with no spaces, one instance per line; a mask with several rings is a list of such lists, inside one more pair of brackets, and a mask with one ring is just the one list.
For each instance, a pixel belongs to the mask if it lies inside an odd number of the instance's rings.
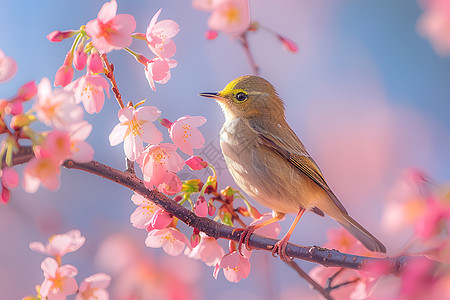
[[428,38],[434,50],[450,55],[450,3],[448,0],[424,0],[424,12],[417,21],[417,30]]

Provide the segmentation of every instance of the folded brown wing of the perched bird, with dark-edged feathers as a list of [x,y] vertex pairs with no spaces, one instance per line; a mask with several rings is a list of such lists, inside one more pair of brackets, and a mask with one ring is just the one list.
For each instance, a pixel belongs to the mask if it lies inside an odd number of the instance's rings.
[[[333,200],[334,204],[336,204],[336,206],[342,212],[347,214],[347,210],[339,201],[339,199],[334,195],[334,193],[331,191],[330,187],[325,182],[325,179],[323,178],[322,172],[320,171],[319,167],[306,151],[288,150],[286,145],[283,145],[284,143],[280,139],[274,137],[265,130],[261,130],[261,128],[258,128],[259,126],[255,126],[254,124],[250,124],[250,126],[255,131],[257,131],[258,138],[261,144],[267,146],[268,148],[272,149],[273,151],[281,155],[291,165],[293,165],[299,171],[308,176],[308,178],[314,181],[319,187],[321,187],[328,194],[330,199]],[[292,131],[291,133],[295,135]]]

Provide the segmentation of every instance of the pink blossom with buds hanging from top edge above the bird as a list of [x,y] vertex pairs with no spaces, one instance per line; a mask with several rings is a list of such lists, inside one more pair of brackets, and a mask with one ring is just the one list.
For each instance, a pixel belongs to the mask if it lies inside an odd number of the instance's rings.
[[[290,39],[270,30],[259,22],[251,21],[248,0],[192,0],[195,9],[211,13],[205,37],[213,40],[218,32],[231,38],[244,37],[249,31],[262,29],[275,36],[289,52],[298,52],[298,46]],[[244,47],[248,47],[244,43]]]

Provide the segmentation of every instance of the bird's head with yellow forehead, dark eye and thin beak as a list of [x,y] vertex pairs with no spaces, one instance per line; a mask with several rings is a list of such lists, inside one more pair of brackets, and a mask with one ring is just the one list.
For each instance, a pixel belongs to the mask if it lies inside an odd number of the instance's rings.
[[213,98],[221,106],[225,118],[267,117],[284,118],[284,104],[275,88],[258,76],[242,76],[234,79],[220,92],[200,93]]

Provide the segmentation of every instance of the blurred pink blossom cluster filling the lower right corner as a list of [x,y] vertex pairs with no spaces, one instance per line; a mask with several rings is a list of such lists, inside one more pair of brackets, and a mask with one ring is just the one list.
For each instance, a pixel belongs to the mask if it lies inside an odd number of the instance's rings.
[[[314,267],[309,275],[318,283],[340,287],[333,291],[336,299],[444,299],[443,295],[450,295],[450,191],[431,184],[419,170],[408,170],[404,177],[388,198],[383,223],[399,236],[411,235],[399,254],[414,258],[397,275],[387,275],[391,272],[383,261],[369,263],[363,270]],[[343,228],[330,229],[327,237],[326,248],[376,255]]]

